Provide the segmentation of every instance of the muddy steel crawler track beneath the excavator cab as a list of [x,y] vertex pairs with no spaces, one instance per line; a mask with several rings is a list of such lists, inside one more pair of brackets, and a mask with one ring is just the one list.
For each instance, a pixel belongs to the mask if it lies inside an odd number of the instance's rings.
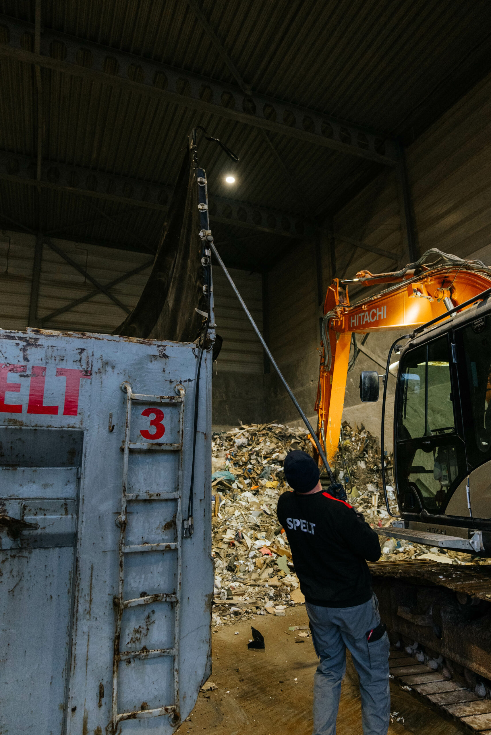
[[369,564],[398,684],[491,735],[491,563]]

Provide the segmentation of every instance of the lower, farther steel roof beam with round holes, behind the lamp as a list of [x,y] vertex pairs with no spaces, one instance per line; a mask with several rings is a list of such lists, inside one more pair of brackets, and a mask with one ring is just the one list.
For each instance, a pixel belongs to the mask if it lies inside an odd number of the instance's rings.
[[[113,176],[82,166],[43,161],[41,179],[36,180],[36,159],[0,151],[0,179],[13,183],[42,186],[87,197],[106,199],[133,207],[168,211],[172,187],[150,184],[138,179]],[[259,230],[282,237],[301,240],[315,228],[313,223],[287,212],[276,212],[265,207],[254,207],[233,199],[209,196],[209,214],[212,221]]]

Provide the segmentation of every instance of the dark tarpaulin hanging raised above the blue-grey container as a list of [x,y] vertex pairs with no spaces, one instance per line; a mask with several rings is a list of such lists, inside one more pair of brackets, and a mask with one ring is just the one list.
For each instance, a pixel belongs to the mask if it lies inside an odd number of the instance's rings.
[[169,208],[168,227],[135,309],[114,334],[173,342],[194,342],[207,311],[204,269],[198,236],[198,195],[188,148]]

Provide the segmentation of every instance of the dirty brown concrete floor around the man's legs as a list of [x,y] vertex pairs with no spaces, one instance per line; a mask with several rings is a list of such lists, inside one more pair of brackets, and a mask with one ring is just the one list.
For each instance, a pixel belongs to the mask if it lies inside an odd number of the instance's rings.
[[[289,625],[307,625],[303,606],[285,617],[257,616],[254,627],[265,637],[265,650],[248,650],[251,621],[212,634],[213,692],[200,692],[190,721],[179,735],[311,735],[312,677],[318,659],[310,638],[295,642]],[[236,632],[238,635],[236,635]],[[299,638],[298,638],[299,639]],[[393,723],[389,735],[457,735],[458,725],[440,717],[397,684],[391,684]],[[337,735],[361,735],[356,672],[348,660],[343,682]]]

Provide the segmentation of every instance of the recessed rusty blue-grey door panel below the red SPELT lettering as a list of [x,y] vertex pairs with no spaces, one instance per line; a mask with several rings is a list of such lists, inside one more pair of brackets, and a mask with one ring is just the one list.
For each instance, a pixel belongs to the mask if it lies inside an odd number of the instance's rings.
[[65,725],[82,440],[82,431],[0,429],[1,459],[10,462],[0,467],[0,667],[10,731],[62,735]]

